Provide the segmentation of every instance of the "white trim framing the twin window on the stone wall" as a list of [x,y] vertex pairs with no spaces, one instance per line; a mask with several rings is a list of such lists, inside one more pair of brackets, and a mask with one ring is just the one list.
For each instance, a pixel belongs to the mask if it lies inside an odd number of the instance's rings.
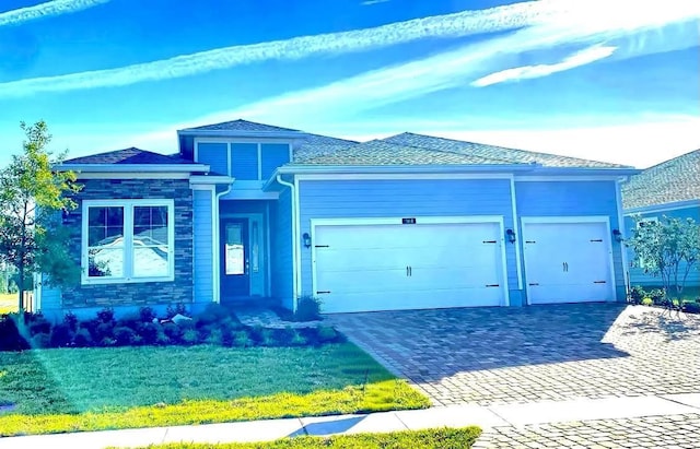
[[[133,276],[133,208],[135,206],[167,206],[167,263],[168,273],[165,276]],[[121,277],[90,277],[88,273],[88,218],[89,208],[124,208],[124,276]],[[83,200],[82,202],[82,236],[80,261],[82,267],[81,284],[131,284],[144,282],[173,282],[175,280],[175,201],[167,199],[126,199],[126,200]]]

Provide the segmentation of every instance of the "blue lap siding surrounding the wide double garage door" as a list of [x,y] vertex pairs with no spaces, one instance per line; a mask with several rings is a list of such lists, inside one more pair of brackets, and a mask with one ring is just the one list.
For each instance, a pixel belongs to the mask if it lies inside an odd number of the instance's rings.
[[[513,226],[509,179],[302,180],[300,235],[312,218],[503,216]],[[302,294],[312,292],[311,250],[301,248]],[[508,282],[517,287],[515,250],[505,245]]]

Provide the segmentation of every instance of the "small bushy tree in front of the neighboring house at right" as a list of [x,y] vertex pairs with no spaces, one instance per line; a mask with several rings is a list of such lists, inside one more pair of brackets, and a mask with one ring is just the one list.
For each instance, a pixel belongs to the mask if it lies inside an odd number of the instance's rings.
[[653,276],[661,276],[664,291],[674,287],[680,298],[688,274],[700,258],[700,225],[692,218],[641,221],[627,245],[634,250],[634,264]]

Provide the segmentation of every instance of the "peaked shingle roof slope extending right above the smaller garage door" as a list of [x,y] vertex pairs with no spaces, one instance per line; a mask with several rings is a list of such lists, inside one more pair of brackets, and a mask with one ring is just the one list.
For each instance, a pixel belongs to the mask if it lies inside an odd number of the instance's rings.
[[548,153],[506,149],[503,146],[487,145],[482,143],[464,142],[459,140],[436,138],[432,135],[404,132],[384,139],[385,142],[401,145],[417,146],[425,150],[435,150],[448,153],[458,153],[487,159],[500,159],[501,163],[530,164],[538,163],[546,167],[586,167],[586,168],[626,168],[625,165],[609,164],[605,162],[581,159],[578,157],[560,156]]

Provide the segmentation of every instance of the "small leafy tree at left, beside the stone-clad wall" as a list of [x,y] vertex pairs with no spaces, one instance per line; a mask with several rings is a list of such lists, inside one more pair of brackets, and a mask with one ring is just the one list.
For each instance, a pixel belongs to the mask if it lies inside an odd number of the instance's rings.
[[46,145],[51,137],[44,121],[22,122],[26,134],[23,153],[13,155],[0,170],[0,258],[18,270],[19,307],[34,273],[47,273],[51,282],[73,282],[79,268],[68,256],[68,233],[61,212],[77,206],[70,193],[80,186],[71,172],[55,172]]

